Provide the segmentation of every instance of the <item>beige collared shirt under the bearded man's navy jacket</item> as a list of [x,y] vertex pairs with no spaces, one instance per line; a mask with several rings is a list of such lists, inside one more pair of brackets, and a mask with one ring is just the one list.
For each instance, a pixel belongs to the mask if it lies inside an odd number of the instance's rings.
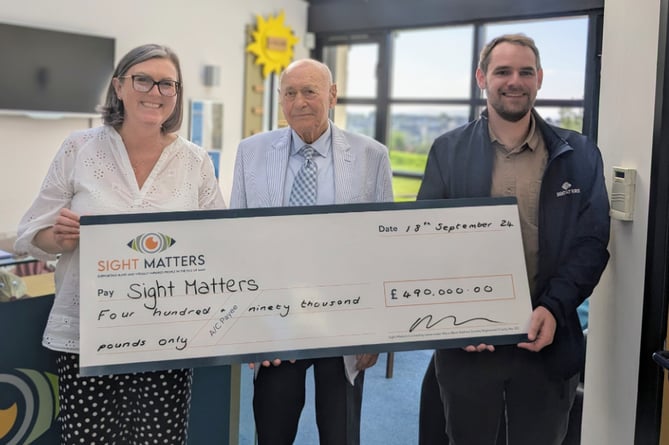
[[534,292],[539,261],[539,193],[548,160],[546,143],[536,129],[534,116],[527,137],[517,147],[505,147],[488,125],[495,150],[490,195],[515,196],[518,200],[530,293]]

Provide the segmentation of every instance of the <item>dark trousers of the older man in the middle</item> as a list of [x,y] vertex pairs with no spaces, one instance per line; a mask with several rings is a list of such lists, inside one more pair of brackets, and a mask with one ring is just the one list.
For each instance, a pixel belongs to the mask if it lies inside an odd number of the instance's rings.
[[305,401],[305,377],[313,366],[316,424],[321,445],[359,445],[364,373],[351,385],[341,357],[284,361],[263,367],[253,389],[258,445],[291,445]]

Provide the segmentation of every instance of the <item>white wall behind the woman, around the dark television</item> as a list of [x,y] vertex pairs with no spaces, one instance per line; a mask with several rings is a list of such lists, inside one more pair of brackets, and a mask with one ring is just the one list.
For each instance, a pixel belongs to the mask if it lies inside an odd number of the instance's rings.
[[[295,56],[306,57],[307,3],[303,0],[0,0],[0,22],[87,33],[116,39],[116,60],[144,43],[172,47],[181,60],[184,104],[213,99],[224,104],[221,188],[228,196],[237,144],[242,135],[246,25],[285,12],[285,24],[300,41]],[[221,67],[221,83],[205,87],[204,65]],[[98,125],[99,119],[92,124]],[[0,114],[0,241],[16,233],[19,219],[39,190],[63,139],[91,125],[88,119],[31,119]],[[187,136],[188,110],[181,134]]]

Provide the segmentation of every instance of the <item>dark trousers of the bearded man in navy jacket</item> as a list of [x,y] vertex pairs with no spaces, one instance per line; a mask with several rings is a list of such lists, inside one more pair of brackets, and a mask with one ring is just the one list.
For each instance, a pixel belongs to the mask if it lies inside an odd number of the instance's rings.
[[539,354],[515,345],[439,350],[435,367],[451,445],[495,444],[502,428],[510,445],[562,443],[578,375],[553,378]]

